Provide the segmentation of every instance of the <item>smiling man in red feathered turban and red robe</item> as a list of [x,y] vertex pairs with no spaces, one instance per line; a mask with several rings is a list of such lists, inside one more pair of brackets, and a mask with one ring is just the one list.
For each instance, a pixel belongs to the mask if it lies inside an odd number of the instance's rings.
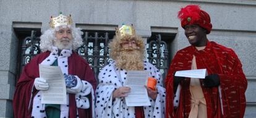
[[[199,6],[178,13],[191,46],[177,51],[165,80],[166,117],[243,117],[247,80],[233,49],[209,41],[211,20]],[[176,77],[179,70],[207,69],[204,79]]]

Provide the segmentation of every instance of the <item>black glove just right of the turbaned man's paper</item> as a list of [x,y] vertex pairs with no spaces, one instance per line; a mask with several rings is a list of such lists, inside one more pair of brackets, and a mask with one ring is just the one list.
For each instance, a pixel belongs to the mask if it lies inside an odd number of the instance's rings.
[[220,77],[218,74],[211,74],[203,79],[203,86],[215,87],[220,85]]

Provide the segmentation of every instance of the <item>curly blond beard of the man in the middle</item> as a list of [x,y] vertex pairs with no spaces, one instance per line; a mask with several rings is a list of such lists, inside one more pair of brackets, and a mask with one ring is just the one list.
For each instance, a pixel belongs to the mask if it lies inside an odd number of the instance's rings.
[[143,70],[143,52],[137,49],[122,49],[116,59],[116,66],[126,70]]

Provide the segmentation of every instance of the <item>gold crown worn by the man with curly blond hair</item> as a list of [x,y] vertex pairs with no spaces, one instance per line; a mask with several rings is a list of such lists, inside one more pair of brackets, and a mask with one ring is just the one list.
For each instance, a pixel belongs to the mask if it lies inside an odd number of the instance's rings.
[[135,29],[134,26],[128,26],[128,25],[122,25],[121,28],[116,28],[116,35],[118,36],[125,36],[125,35],[135,35]]

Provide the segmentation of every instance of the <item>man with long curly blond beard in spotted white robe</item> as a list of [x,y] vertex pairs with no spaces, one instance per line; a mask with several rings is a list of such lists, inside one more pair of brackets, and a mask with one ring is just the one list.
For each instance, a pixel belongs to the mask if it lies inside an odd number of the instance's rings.
[[[96,117],[164,117],[165,89],[161,73],[144,59],[145,45],[135,34],[133,27],[122,25],[109,43],[110,56],[114,60],[98,75],[96,89]],[[150,106],[127,106],[125,97],[130,88],[124,86],[128,70],[147,70],[149,77],[156,79],[154,90],[147,87]]]

